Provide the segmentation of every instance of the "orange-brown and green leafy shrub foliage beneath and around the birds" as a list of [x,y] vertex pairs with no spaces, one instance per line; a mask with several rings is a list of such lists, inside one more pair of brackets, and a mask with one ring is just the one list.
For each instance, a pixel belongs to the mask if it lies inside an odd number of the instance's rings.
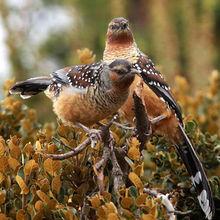
[[[79,51],[85,62],[94,59],[87,49]],[[84,57],[84,58],[83,58]],[[176,78],[175,94],[184,109],[186,131],[204,164],[216,201],[220,202],[219,79],[214,71],[210,86],[190,96],[188,84]],[[5,84],[5,91],[13,83]],[[6,93],[7,94],[7,93]],[[160,199],[144,193],[144,186],[169,193],[177,210],[193,210],[203,216],[191,181],[173,146],[162,137],[153,137],[143,151],[132,132],[111,127],[119,152],[118,163],[125,186],[114,190],[112,163],[103,173],[105,190],[99,192],[95,164],[102,157],[103,144],[87,148],[66,160],[52,160],[45,154],[60,154],[76,148],[87,134],[79,128],[58,122],[38,123],[36,112],[15,97],[0,104],[0,210],[1,219],[168,219]],[[123,119],[121,119],[123,122]],[[106,123],[106,121],[104,121]],[[56,136],[60,142],[52,138]],[[64,146],[69,146],[68,148]],[[127,149],[123,156],[123,149]],[[217,204],[217,203],[216,203]],[[181,216],[180,216],[181,217]]]

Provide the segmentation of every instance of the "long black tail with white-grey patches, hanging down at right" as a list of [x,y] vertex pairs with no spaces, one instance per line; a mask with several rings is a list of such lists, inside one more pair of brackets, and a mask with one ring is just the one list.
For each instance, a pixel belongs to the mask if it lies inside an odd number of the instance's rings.
[[198,193],[197,198],[199,204],[205,213],[206,218],[211,220],[215,214],[215,207],[208,179],[189,138],[180,124],[179,130],[183,138],[183,143],[176,144],[176,148],[191,175],[191,180]]

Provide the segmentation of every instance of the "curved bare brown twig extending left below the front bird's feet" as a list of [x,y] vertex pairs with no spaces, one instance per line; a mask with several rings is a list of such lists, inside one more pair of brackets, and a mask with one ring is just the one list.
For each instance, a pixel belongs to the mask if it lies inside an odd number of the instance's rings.
[[72,149],[71,151],[64,154],[44,154],[47,158],[51,158],[53,160],[64,160],[70,157],[73,157],[79,153],[81,153],[89,144],[91,143],[90,138],[87,138],[83,141],[79,146]]

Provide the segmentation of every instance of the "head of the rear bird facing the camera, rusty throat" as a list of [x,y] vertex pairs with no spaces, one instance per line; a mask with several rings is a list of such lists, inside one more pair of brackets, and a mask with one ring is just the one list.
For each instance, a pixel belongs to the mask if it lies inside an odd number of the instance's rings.
[[108,25],[108,43],[133,43],[133,34],[129,28],[128,20],[125,18],[114,18]]

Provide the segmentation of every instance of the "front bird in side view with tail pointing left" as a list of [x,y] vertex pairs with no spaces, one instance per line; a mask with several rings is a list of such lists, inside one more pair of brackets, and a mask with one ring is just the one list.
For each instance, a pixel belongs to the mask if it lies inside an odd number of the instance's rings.
[[11,94],[29,98],[42,91],[64,123],[92,125],[118,111],[129,95],[137,70],[126,60],[66,67],[51,77],[17,82]]

